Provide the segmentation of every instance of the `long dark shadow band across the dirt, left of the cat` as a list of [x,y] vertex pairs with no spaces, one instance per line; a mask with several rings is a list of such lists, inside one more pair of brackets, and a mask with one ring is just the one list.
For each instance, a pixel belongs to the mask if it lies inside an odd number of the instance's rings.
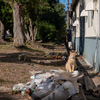
[[[18,57],[20,54],[23,53],[29,55],[31,61],[19,61]],[[38,61],[40,61],[40,63],[38,63]],[[26,53],[26,52],[9,53],[9,54],[0,53],[0,62],[17,63],[17,64],[35,63],[44,66],[56,66],[56,67],[65,65],[65,61],[62,59],[47,58],[43,56],[32,55],[31,53]]]

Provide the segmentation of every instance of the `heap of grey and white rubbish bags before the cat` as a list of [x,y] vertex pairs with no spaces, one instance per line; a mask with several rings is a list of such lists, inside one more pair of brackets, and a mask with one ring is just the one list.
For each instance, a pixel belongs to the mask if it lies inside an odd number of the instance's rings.
[[31,76],[32,81],[14,85],[12,91],[24,94],[31,89],[29,94],[32,99],[37,100],[66,100],[79,92],[77,78],[64,70],[50,70],[40,72]]

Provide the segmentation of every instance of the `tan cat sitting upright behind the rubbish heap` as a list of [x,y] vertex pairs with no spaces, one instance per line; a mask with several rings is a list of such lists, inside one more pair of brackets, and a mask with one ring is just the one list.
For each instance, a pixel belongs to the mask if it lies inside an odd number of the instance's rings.
[[70,72],[70,73],[74,72],[77,69],[75,56],[76,56],[76,52],[75,51],[74,52],[70,51],[68,61],[65,65],[67,71]]

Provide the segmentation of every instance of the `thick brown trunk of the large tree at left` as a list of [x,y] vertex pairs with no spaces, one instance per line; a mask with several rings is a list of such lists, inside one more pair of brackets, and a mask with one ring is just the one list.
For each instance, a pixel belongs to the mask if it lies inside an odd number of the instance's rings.
[[13,8],[13,33],[14,33],[14,45],[23,46],[24,45],[24,33],[22,31],[20,7],[14,1]]

